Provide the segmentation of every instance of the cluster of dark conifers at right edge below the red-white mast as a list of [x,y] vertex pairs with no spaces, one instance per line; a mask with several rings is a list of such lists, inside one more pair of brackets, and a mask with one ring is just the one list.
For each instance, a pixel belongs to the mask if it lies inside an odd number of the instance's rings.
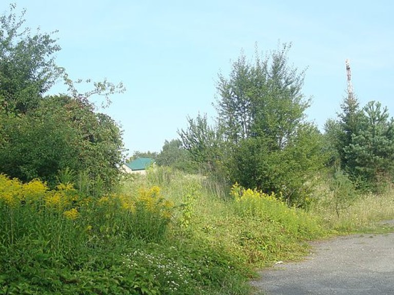
[[326,123],[329,163],[344,171],[359,188],[380,191],[390,184],[394,168],[394,121],[380,102],[370,101],[362,109],[349,95],[337,120]]

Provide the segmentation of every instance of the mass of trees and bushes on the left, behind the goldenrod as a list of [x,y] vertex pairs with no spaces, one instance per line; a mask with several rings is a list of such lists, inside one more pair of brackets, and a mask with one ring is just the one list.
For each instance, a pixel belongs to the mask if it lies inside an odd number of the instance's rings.
[[64,74],[54,60],[60,47],[50,34],[24,29],[24,12],[14,10],[0,18],[0,172],[54,183],[69,168],[110,189],[123,161],[122,133],[87,96],[116,89],[105,81],[78,94],[64,75],[71,95],[44,96]]

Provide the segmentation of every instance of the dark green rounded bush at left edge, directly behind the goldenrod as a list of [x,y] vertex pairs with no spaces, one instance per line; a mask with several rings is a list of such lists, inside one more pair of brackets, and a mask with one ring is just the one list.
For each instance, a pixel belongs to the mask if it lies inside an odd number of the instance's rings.
[[78,164],[74,158],[77,133],[65,121],[13,114],[3,119],[2,173],[23,181],[41,177],[53,182],[58,170]]

